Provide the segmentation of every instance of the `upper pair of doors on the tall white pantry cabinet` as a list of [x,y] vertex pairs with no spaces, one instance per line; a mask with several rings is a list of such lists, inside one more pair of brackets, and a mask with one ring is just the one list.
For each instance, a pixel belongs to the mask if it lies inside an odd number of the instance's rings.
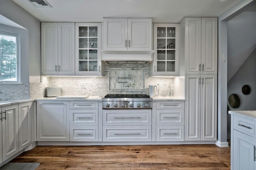
[[184,18],[185,73],[217,74],[218,18]]

